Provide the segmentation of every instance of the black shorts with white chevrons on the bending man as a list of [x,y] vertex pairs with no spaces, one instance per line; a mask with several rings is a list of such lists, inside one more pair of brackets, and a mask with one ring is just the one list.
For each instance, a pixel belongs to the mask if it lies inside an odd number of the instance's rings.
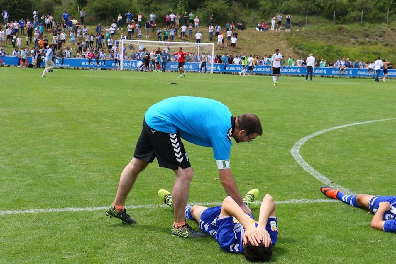
[[180,134],[156,131],[149,127],[145,120],[133,157],[148,162],[157,158],[158,165],[168,169],[191,167]]

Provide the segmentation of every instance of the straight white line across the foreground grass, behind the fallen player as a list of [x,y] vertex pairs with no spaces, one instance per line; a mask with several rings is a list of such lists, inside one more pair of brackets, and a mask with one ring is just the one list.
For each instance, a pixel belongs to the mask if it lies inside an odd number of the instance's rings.
[[[331,203],[336,202],[333,199],[291,199],[286,201],[275,201],[277,204],[295,204],[295,203]],[[221,205],[221,202],[209,202],[209,203],[189,203],[191,205],[203,205],[203,206],[216,206]],[[261,201],[253,204],[261,204]],[[28,209],[28,210],[10,210],[0,211],[0,215],[17,215],[17,214],[33,214],[33,213],[57,213],[57,212],[79,212],[79,211],[99,211],[105,210],[109,206],[97,206],[97,207],[65,207],[65,208],[48,208],[48,209]],[[168,207],[168,205],[148,204],[148,205],[129,205],[127,209],[147,209],[147,208],[161,208]]]

